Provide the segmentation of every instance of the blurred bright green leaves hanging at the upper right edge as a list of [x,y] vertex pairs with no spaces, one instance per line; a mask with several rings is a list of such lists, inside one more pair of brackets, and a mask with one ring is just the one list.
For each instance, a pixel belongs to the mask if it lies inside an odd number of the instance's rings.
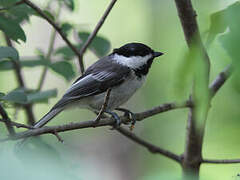
[[240,91],[239,18],[240,1],[213,13],[211,15],[211,24],[207,39],[207,43],[210,45],[217,36],[219,37],[218,40],[220,44],[232,60],[232,67],[234,70],[233,87],[237,92]]

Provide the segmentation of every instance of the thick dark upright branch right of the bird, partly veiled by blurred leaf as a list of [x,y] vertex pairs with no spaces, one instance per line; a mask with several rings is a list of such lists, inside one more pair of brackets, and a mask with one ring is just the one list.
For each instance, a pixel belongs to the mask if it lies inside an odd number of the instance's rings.
[[[204,58],[201,59],[204,61],[203,76],[206,81],[205,83],[209,84],[210,60],[201,40],[196,20],[197,14],[193,9],[192,2],[191,0],[175,0],[175,3],[189,50],[192,51],[197,48],[197,50],[204,55]],[[196,87],[196,84],[194,84],[194,87]],[[196,179],[198,179],[202,160],[203,136],[209,107],[206,107],[206,112],[203,112],[204,117],[201,117],[200,119],[200,117],[196,116],[196,109],[199,109],[195,107],[198,106],[198,103],[195,103],[196,96],[195,91],[193,91],[191,99],[194,107],[190,108],[188,116],[186,146],[182,166],[185,178],[188,178],[189,174],[193,174],[196,176]],[[207,106],[209,104],[210,103],[207,103]]]

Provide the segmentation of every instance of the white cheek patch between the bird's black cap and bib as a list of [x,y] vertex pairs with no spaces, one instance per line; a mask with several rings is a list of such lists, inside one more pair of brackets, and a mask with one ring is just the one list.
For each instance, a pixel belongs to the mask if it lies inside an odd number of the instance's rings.
[[149,59],[152,58],[152,55],[146,56],[132,56],[132,57],[125,57],[122,55],[114,54],[113,59],[124,66],[128,66],[130,68],[136,69],[141,67],[142,65],[146,64]]

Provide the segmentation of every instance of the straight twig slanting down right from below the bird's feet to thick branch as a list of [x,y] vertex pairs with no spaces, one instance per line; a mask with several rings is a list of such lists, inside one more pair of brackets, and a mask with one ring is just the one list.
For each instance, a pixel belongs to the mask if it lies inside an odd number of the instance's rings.
[[158,146],[155,146],[141,138],[139,138],[138,136],[136,136],[134,133],[122,128],[122,127],[119,127],[118,129],[116,129],[118,132],[120,132],[121,134],[123,134],[124,136],[126,136],[127,138],[131,139],[132,141],[142,145],[143,147],[147,148],[150,152],[152,153],[159,153],[159,154],[162,154],[174,161],[177,161],[177,162],[181,162],[181,156],[180,155],[177,155],[177,154],[174,154],[168,150],[165,150],[165,149],[162,149]]

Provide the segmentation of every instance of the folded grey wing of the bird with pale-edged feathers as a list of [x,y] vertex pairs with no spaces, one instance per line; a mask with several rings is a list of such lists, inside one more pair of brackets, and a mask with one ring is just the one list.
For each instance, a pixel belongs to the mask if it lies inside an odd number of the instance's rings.
[[[103,60],[104,62],[101,62]],[[131,71],[121,65],[114,66],[111,64],[113,62],[106,59],[99,61],[90,66],[86,73],[72,84],[52,109],[63,107],[84,97],[105,92],[108,88],[121,84]]]

